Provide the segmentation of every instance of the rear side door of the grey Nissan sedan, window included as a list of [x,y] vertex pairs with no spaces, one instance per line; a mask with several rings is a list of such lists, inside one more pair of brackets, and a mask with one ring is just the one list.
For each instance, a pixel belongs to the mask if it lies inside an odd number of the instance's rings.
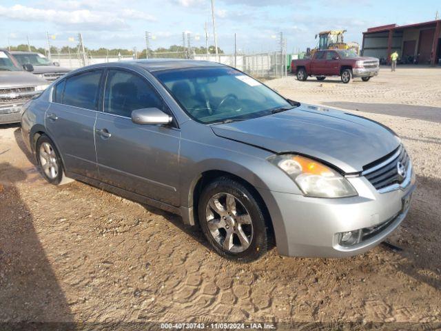
[[57,83],[45,115],[65,170],[91,178],[98,177],[94,124],[102,74],[103,70],[90,70]]

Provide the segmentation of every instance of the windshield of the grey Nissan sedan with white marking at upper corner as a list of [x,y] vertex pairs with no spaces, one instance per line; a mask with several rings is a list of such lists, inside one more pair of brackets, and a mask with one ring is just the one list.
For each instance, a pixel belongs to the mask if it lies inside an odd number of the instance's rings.
[[154,74],[184,110],[202,123],[252,119],[293,108],[276,92],[233,68],[189,68]]

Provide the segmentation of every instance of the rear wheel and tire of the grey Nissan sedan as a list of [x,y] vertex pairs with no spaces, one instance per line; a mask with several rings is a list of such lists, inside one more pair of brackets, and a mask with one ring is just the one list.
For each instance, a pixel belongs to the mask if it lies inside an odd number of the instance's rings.
[[48,136],[43,134],[39,137],[35,152],[39,171],[46,181],[53,185],[63,185],[73,181],[66,177],[60,154]]

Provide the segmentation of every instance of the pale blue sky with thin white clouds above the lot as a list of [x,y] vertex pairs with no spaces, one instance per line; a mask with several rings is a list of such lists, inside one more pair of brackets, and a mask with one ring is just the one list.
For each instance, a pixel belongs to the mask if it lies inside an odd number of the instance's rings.
[[[279,50],[283,32],[287,52],[314,48],[315,34],[345,29],[345,41],[362,41],[369,27],[432,21],[440,0],[216,0],[218,46],[234,51],[234,34],[240,52]],[[151,47],[182,43],[182,32],[192,34],[193,46],[214,44],[211,0],[0,0],[0,47],[30,43],[45,47],[76,46],[72,37],[81,32],[88,48],[145,48],[145,31]]]

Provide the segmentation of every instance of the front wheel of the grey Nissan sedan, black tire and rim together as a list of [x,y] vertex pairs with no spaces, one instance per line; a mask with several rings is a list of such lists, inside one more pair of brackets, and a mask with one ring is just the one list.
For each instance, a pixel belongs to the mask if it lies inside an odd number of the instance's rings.
[[221,257],[249,262],[267,252],[265,217],[245,185],[229,177],[209,183],[198,201],[198,217],[205,238]]

